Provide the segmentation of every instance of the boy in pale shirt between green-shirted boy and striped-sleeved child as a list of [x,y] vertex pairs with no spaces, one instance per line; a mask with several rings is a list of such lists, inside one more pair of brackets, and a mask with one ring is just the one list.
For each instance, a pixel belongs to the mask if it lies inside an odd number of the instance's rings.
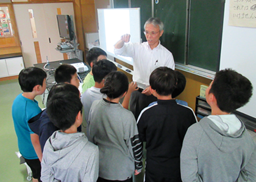
[[88,136],[88,116],[91,109],[91,104],[93,101],[103,98],[103,94],[100,92],[104,84],[104,78],[110,72],[115,72],[117,70],[113,62],[108,61],[107,59],[102,59],[98,62],[95,62],[93,65],[93,79],[95,81],[94,87],[90,87],[85,90],[82,94],[82,104],[84,106],[84,117],[87,121],[87,136]]

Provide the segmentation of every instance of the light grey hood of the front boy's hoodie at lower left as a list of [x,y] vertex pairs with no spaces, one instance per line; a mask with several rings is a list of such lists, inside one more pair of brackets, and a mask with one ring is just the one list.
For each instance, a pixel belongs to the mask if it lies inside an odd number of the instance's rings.
[[65,162],[65,167],[68,168],[87,143],[88,139],[85,133],[55,131],[49,138],[47,147],[44,147],[44,155],[47,155],[49,166],[62,165],[63,167],[64,162],[62,160],[64,158],[65,161],[70,161],[70,163]]

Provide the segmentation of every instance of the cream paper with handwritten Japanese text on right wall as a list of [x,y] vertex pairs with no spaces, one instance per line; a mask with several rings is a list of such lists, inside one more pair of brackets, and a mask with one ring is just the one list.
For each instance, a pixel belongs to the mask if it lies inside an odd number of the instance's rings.
[[236,27],[256,27],[256,1],[230,0],[229,25]]

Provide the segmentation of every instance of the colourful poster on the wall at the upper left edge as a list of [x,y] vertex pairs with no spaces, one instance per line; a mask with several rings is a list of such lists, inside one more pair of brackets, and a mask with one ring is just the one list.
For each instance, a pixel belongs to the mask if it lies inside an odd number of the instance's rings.
[[8,7],[0,7],[0,38],[7,38],[12,36],[12,23]]

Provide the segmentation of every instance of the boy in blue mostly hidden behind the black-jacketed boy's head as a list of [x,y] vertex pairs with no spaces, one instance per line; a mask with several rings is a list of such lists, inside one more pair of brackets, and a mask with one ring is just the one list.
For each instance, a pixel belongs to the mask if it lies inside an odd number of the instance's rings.
[[[179,96],[180,93],[183,92],[183,90],[186,87],[186,82],[187,82],[185,76],[182,73],[180,73],[179,71],[174,70],[174,74],[176,75],[177,83],[176,83],[176,88],[173,90],[173,92],[171,94],[171,97],[173,99],[176,98],[177,96]],[[188,103],[186,101],[182,101],[182,100],[179,100],[179,99],[175,99],[175,100],[176,100],[177,104],[181,104],[183,106],[188,106]],[[157,103],[157,101],[149,104],[149,106],[152,106],[156,103]]]

